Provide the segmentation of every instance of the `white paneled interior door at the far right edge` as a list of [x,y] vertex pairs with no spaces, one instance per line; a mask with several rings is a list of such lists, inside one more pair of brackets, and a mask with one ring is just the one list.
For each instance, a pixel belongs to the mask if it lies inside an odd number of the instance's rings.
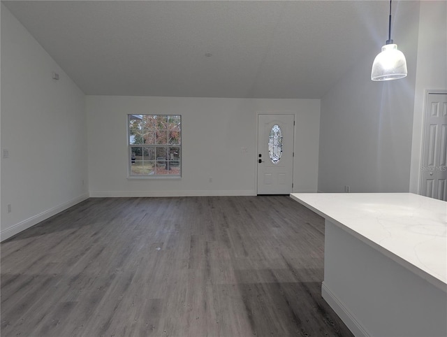
[[428,94],[422,164],[422,195],[447,201],[447,94]]

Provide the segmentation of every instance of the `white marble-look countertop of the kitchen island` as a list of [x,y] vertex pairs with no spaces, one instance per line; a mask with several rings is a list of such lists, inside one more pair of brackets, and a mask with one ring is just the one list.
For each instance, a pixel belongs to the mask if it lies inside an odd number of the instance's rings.
[[447,291],[447,202],[411,193],[293,193],[318,215]]

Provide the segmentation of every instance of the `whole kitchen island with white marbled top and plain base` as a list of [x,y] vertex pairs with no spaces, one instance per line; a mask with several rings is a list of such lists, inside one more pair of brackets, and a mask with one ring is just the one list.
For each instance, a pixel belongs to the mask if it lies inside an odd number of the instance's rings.
[[291,194],[325,218],[322,296],[356,336],[447,336],[447,203]]

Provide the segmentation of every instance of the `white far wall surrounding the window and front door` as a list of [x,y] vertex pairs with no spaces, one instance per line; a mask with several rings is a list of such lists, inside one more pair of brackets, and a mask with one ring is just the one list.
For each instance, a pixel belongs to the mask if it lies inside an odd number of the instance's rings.
[[[129,113],[182,115],[182,179],[127,179]],[[316,192],[318,99],[87,96],[90,195],[254,195],[258,113],[295,114],[294,192]]]

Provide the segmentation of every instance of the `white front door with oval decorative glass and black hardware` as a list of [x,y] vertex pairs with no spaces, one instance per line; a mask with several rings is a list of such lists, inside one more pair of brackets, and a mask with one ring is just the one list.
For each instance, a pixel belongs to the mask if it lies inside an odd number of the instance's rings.
[[258,194],[289,194],[294,115],[258,115]]

